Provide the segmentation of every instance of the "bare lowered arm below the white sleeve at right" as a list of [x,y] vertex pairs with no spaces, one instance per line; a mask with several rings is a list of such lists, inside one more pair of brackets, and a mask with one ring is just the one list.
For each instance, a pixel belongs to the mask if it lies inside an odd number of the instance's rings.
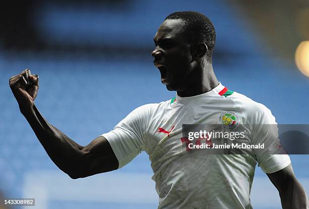
[[309,208],[307,195],[297,181],[291,164],[267,176],[279,191],[283,209]]

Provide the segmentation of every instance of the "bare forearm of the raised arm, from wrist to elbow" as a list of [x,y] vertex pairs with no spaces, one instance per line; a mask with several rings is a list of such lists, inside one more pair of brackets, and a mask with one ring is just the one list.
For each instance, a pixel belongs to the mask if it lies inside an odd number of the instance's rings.
[[49,124],[35,105],[21,110],[38,140],[52,161],[65,173],[74,178],[81,162],[83,146],[71,140],[53,125]]

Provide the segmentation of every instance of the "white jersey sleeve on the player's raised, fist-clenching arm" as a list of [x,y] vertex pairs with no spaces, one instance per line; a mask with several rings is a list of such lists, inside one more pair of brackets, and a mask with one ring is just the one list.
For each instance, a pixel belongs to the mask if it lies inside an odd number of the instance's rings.
[[119,122],[114,130],[101,135],[109,141],[119,162],[118,169],[144,150],[144,130],[148,124],[149,109],[149,105],[135,109]]

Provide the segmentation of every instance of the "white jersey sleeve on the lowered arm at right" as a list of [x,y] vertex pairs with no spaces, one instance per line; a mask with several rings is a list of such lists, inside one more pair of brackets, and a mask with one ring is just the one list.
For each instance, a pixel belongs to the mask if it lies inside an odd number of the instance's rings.
[[254,149],[256,161],[265,173],[274,173],[287,167],[291,161],[280,145],[278,125],[271,111],[260,104],[253,114],[252,143],[263,144],[263,149]]

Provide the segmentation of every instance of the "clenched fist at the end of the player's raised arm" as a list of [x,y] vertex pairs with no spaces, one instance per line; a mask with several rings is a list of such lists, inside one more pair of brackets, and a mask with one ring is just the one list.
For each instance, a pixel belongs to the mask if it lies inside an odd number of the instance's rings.
[[38,92],[38,75],[31,75],[29,69],[12,76],[9,80],[11,90],[18,102],[21,112],[33,106]]

